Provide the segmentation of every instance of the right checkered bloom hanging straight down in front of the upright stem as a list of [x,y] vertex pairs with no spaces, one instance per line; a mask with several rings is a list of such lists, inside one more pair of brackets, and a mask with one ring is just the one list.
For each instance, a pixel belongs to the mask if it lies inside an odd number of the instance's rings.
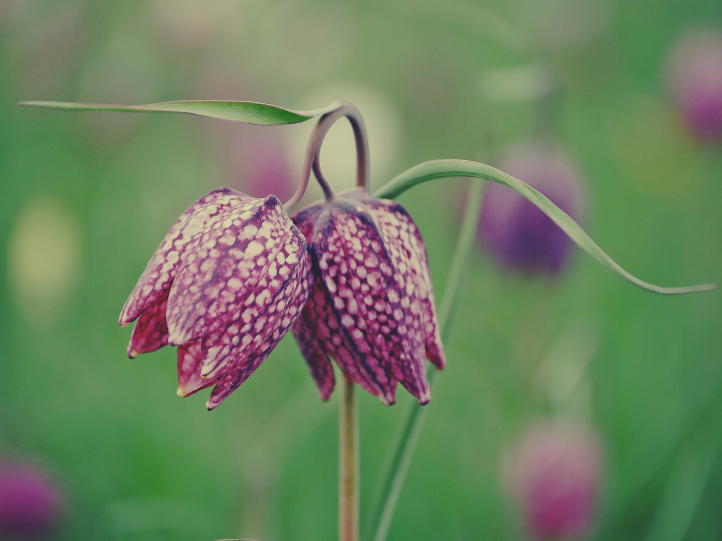
[[425,359],[437,369],[445,359],[426,248],[411,216],[356,188],[292,219],[316,276],[293,333],[321,397],[334,389],[331,356],[386,405],[396,401],[396,382],[428,403]]

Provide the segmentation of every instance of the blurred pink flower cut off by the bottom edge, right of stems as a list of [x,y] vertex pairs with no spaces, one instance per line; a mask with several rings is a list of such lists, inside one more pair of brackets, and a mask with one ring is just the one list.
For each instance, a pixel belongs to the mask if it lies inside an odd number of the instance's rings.
[[593,526],[602,451],[586,426],[541,421],[505,457],[505,481],[534,540],[574,540]]

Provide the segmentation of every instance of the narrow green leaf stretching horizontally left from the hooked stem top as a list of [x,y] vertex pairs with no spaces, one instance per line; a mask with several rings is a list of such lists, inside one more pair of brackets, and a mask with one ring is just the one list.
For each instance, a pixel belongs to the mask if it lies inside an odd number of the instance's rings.
[[334,100],[326,107],[310,111],[284,109],[277,105],[258,102],[196,101],[160,102],[150,105],[112,105],[105,103],[74,102],[19,102],[23,107],[43,107],[62,111],[121,111],[126,113],[186,113],[206,116],[233,122],[245,122],[258,126],[277,124],[295,124],[318,115],[331,113],[343,105],[342,100]]

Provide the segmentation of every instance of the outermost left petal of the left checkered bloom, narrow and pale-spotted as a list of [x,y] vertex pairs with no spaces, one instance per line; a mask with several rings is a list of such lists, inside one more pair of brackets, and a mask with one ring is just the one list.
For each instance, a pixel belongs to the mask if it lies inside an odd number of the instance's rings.
[[248,195],[235,190],[218,188],[188,207],[171,226],[165,239],[148,262],[123,306],[118,323],[123,326],[128,325],[167,291],[181,266],[183,255],[191,240],[229,208],[238,206],[248,199]]

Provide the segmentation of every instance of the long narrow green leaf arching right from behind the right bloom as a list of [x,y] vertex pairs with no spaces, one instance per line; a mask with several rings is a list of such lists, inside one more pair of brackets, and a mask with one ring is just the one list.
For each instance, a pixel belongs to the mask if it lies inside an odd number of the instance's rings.
[[716,289],[716,283],[703,283],[699,286],[687,286],[687,287],[660,287],[655,286],[653,283],[648,283],[640,280],[636,276],[625,271],[622,267],[606,255],[604,250],[596,245],[591,237],[575,222],[571,217],[562,211],[561,208],[554,205],[552,201],[526,182],[522,182],[505,172],[495,169],[490,165],[480,164],[478,162],[469,162],[464,159],[438,159],[432,162],[424,162],[409,170],[401,173],[387,185],[383,186],[378,190],[375,195],[383,198],[395,198],[400,193],[412,188],[421,182],[427,180],[434,180],[442,177],[477,177],[486,180],[492,180],[499,182],[505,186],[508,186],[512,190],[521,193],[524,197],[529,199],[534,205],[541,208],[549,218],[551,218],[555,224],[572,239],[582,250],[587,252],[603,267],[609,271],[622,276],[625,280],[630,281],[635,286],[639,286],[642,289],[653,291],[664,295],[679,295],[684,293],[694,293],[695,291],[707,291],[709,289]]

